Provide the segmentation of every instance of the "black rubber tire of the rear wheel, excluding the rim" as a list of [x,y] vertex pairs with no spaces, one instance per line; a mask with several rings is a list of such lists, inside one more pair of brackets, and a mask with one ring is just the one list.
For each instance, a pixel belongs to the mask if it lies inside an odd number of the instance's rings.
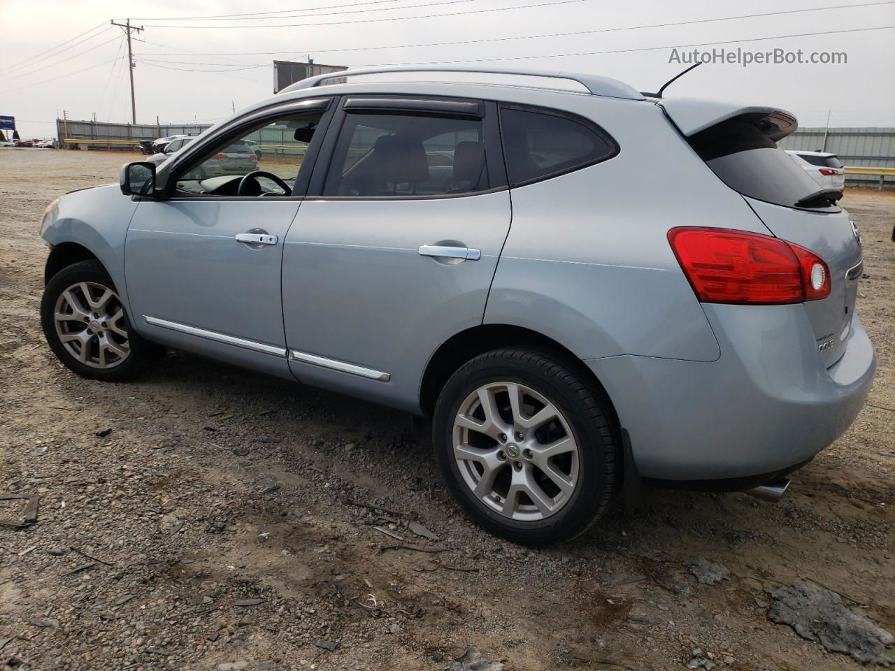
[[[435,456],[447,488],[488,531],[524,545],[550,545],[584,533],[609,507],[621,469],[618,428],[609,399],[586,380],[579,366],[555,352],[493,350],[465,363],[441,390],[432,422]],[[579,446],[574,491],[557,512],[538,521],[514,520],[485,505],[466,484],[454,458],[454,420],[461,404],[476,389],[498,381],[521,383],[549,399]]]

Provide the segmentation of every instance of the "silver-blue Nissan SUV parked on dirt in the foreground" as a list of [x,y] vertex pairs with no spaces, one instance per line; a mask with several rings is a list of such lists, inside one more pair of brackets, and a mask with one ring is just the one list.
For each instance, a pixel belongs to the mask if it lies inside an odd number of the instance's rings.
[[[382,72],[300,81],[52,203],[60,361],[122,381],[171,347],[430,416],[460,505],[528,544],[643,483],[778,496],[855,419],[861,238],[777,149],[793,115]],[[203,177],[250,136],[257,170]]]

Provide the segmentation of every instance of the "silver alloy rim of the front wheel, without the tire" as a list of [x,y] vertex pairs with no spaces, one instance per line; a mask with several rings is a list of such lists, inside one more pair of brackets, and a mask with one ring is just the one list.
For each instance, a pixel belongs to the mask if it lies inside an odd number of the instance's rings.
[[91,368],[115,368],[131,355],[121,299],[107,286],[71,285],[59,294],[53,319],[66,352]]

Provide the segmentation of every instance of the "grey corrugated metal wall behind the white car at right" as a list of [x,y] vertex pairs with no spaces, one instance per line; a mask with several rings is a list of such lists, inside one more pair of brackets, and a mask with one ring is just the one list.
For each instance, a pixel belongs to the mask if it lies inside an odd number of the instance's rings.
[[[780,140],[778,145],[782,149],[829,151],[846,166],[895,168],[895,128],[799,128]],[[880,178],[869,174],[847,174],[846,182],[876,186]],[[895,178],[886,177],[884,184],[887,188],[895,187]]]

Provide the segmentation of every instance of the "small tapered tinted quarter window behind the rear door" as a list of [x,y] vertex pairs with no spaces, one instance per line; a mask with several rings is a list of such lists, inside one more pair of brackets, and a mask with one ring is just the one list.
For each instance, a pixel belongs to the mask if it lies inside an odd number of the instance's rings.
[[510,186],[519,186],[614,157],[618,146],[585,119],[547,110],[500,110]]

